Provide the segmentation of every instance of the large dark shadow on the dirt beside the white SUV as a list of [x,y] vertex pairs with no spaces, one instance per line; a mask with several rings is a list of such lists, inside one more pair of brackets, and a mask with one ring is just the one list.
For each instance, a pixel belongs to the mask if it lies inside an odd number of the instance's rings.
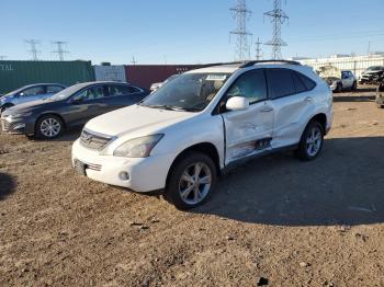
[[234,170],[191,213],[276,226],[384,222],[384,138],[328,139],[320,157],[261,158]]

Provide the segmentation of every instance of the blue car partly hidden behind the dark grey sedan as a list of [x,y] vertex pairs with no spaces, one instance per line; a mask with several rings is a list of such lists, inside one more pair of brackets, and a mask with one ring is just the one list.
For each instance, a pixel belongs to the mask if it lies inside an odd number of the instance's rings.
[[66,89],[66,87],[59,83],[25,85],[0,97],[0,113],[18,104],[47,99],[64,89]]

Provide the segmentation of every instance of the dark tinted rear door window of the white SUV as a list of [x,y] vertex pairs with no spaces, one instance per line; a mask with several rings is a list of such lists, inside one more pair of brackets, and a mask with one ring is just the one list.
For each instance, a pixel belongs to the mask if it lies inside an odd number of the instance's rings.
[[267,74],[271,90],[271,99],[279,99],[296,92],[291,70],[269,69],[267,70]]

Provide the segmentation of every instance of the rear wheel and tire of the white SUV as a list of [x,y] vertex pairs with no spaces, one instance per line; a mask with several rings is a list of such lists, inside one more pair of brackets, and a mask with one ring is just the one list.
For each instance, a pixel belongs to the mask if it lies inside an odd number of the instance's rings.
[[[314,137],[317,137],[317,135],[319,136],[318,140],[313,141]],[[313,142],[308,144],[309,140]],[[312,161],[318,157],[318,154],[323,149],[323,145],[324,145],[324,127],[321,126],[320,123],[314,120],[314,122],[310,122],[305,128],[302,135],[302,138],[300,140],[298,149],[296,153],[301,160]]]

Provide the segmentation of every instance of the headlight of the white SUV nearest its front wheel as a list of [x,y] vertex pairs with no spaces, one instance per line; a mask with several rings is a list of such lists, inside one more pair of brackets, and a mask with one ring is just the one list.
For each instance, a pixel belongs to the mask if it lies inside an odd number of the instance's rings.
[[125,158],[147,158],[162,137],[163,135],[160,134],[131,139],[116,148],[113,151],[113,156]]

